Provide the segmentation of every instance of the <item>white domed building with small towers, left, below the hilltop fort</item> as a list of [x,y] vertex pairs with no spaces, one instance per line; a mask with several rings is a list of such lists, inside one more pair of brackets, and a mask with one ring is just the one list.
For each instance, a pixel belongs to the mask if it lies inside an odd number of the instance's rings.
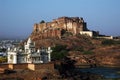
[[8,63],[47,63],[51,61],[51,48],[36,50],[35,44],[29,38],[24,44],[24,51],[17,48],[8,49]]

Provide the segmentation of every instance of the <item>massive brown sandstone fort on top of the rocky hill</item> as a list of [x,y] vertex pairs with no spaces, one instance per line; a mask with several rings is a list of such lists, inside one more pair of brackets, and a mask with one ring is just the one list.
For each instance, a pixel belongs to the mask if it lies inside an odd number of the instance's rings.
[[70,32],[73,35],[80,31],[88,31],[87,24],[79,17],[59,17],[52,22],[34,24],[32,39],[61,38],[62,31]]

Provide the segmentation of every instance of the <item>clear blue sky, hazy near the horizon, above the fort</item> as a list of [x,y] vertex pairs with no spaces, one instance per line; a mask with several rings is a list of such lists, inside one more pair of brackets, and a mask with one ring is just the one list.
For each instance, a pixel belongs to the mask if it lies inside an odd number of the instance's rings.
[[0,0],[0,38],[28,37],[34,23],[83,17],[90,30],[120,35],[120,0]]

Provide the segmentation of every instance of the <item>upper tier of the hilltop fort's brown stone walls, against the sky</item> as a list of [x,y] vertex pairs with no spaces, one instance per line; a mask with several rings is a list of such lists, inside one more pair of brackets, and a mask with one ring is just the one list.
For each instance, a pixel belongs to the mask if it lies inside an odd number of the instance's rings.
[[[74,23],[75,27],[81,27],[81,28],[86,27],[85,22],[83,20],[79,19],[79,17],[60,17],[56,20],[53,20],[52,22],[35,24],[34,31],[36,31],[38,29],[41,32],[50,27],[66,29],[66,24],[68,24],[68,23],[71,23],[71,24]],[[74,26],[71,25],[71,27],[74,27]],[[71,27],[70,27],[70,29],[71,29]],[[68,30],[69,30],[69,26],[68,26]]]

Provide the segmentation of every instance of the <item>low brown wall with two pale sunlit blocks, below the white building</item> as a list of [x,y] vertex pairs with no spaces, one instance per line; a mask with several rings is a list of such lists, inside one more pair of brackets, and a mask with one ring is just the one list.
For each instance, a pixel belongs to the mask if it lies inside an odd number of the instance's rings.
[[41,63],[41,64],[0,64],[2,69],[30,69],[30,70],[41,70],[41,69],[54,69],[54,63]]

